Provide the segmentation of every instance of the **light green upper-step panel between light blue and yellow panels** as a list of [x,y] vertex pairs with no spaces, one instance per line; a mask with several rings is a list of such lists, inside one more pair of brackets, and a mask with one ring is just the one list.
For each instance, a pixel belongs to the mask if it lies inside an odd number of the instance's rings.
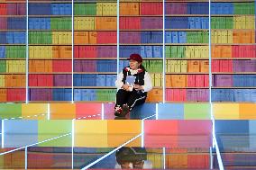
[[185,103],[184,118],[186,120],[210,120],[209,103]]

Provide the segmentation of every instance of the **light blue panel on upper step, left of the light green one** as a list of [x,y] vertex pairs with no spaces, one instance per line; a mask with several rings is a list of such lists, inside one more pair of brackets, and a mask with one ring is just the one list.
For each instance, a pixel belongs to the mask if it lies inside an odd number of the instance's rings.
[[183,120],[184,104],[182,103],[160,103],[159,120]]

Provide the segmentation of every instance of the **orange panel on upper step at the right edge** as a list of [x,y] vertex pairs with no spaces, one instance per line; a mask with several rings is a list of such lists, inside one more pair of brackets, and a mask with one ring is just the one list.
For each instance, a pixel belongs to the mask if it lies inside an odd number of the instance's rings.
[[239,118],[241,120],[256,120],[256,103],[240,103]]

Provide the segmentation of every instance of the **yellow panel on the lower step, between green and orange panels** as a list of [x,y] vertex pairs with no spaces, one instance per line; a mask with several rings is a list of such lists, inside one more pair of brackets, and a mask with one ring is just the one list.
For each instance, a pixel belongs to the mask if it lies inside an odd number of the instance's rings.
[[107,121],[75,121],[75,147],[107,147]]

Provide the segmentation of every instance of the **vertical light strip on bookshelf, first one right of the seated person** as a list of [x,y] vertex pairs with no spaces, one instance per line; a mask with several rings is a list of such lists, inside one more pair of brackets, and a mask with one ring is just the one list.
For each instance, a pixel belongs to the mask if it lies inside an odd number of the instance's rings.
[[165,103],[165,0],[162,3],[162,102]]

